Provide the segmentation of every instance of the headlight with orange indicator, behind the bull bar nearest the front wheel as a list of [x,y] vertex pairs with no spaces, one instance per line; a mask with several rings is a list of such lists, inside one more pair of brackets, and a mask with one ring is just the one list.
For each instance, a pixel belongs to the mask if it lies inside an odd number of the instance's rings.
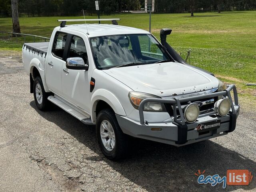
[[[140,102],[146,98],[160,98],[158,96],[142,93],[142,92],[134,92],[130,91],[128,94],[129,100],[132,104],[132,106],[136,109],[139,108]],[[154,111],[154,112],[165,112],[166,109],[164,107],[164,104],[161,103],[155,103],[155,102],[148,102],[144,105],[144,111]]]

